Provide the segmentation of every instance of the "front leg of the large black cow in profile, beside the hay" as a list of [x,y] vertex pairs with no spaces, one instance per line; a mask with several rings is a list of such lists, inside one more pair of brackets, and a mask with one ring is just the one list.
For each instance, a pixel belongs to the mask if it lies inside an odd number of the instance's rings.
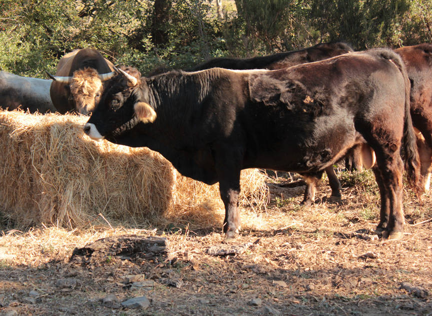
[[223,232],[227,238],[234,238],[240,229],[240,212],[238,208],[238,196],[240,194],[240,173],[238,180],[220,180],[220,196],[225,205],[225,219]]

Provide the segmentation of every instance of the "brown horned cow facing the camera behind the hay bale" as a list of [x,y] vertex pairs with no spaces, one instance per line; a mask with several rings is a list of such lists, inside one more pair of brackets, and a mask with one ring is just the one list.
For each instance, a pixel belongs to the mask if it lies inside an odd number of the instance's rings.
[[57,66],[50,95],[57,111],[89,114],[103,90],[102,82],[114,76],[114,65],[92,48],[66,54]]

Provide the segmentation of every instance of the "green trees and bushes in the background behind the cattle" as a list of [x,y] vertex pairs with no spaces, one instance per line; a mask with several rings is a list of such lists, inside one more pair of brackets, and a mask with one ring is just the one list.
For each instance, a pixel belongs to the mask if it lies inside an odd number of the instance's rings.
[[354,49],[432,42],[432,0],[2,0],[0,70],[45,78],[95,47],[148,74],[212,57],[345,41]]

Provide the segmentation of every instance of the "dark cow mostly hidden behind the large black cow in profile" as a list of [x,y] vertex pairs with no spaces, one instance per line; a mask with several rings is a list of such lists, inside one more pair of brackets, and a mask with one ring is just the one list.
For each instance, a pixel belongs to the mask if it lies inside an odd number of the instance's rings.
[[[215,58],[208,62],[192,68],[190,71],[204,70],[214,67],[225,69],[268,69],[276,70],[305,63],[317,62],[323,59],[353,52],[354,50],[346,43],[321,43],[298,51],[278,53],[269,56],[253,58]],[[342,189],[333,166],[325,169],[331,187],[331,197],[340,198]],[[308,182],[304,191],[302,204],[310,205],[315,200],[316,182]]]

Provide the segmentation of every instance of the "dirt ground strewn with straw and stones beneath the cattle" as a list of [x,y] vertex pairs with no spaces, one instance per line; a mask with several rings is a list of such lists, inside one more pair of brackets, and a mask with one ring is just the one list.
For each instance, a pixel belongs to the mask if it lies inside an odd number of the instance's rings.
[[[242,210],[242,231],[231,243],[218,221],[86,230],[18,230],[4,221],[0,315],[432,315],[430,195],[419,201],[405,189],[405,235],[388,241],[374,232],[372,173],[339,176],[342,200],[326,198],[324,180],[310,208],[299,205],[301,187],[270,184],[266,209]],[[124,235],[166,237],[167,253],[70,261],[75,248]],[[244,252],[211,255],[212,246]],[[150,305],[122,305],[139,296]]]

